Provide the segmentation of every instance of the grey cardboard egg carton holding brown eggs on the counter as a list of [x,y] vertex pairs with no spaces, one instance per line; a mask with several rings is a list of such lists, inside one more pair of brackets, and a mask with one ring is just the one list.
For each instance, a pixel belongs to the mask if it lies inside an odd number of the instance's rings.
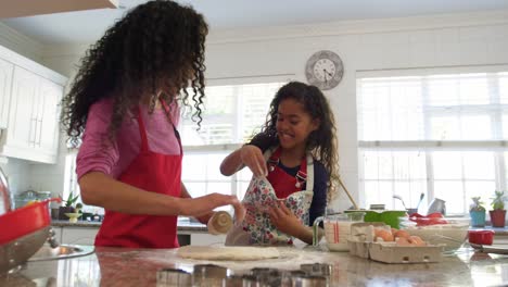
[[[397,246],[395,242],[374,242],[370,230],[384,228],[383,224],[354,224],[347,240],[350,254],[384,263],[441,262],[443,246]],[[365,239],[364,241],[361,239]]]

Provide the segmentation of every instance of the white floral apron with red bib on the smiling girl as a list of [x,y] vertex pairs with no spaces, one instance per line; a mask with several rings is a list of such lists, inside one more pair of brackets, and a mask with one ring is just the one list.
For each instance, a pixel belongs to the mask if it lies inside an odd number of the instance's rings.
[[[245,219],[236,225],[226,237],[227,246],[249,245],[292,245],[293,239],[277,229],[268,215],[268,208],[283,202],[305,225],[308,224],[308,210],[313,201],[314,163],[308,154],[302,160],[296,176],[291,176],[278,166],[280,149],[265,152],[268,159],[268,176],[252,178],[242,200],[246,209]],[[306,182],[306,190],[302,190]]]

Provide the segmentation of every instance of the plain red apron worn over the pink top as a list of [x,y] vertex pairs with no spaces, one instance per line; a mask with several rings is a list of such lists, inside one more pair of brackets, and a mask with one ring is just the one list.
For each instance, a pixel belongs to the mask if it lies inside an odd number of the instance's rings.
[[[182,149],[175,126],[175,135],[180,146],[180,154],[162,154],[150,151],[141,112],[138,109],[141,149],[138,157],[118,180],[172,197],[180,197]],[[131,248],[178,248],[177,216],[136,215],[106,210],[96,246]]]

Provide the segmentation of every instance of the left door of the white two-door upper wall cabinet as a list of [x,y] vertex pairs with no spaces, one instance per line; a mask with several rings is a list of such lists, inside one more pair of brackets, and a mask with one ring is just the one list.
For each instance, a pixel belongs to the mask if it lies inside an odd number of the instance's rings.
[[[17,150],[17,154],[33,152],[36,130],[35,99],[37,99],[37,87],[39,77],[22,67],[14,67],[12,82],[11,109],[9,116],[8,139],[9,146]],[[10,154],[7,154],[10,155]],[[22,158],[25,158],[22,155]]]

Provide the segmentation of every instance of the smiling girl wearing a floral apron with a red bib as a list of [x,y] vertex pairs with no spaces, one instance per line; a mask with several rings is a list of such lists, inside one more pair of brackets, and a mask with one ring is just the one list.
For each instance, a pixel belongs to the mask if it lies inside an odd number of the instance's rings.
[[297,82],[281,87],[262,132],[229,154],[220,172],[245,165],[254,174],[243,199],[246,216],[226,244],[285,245],[291,237],[312,244],[307,226],[325,213],[338,178],[334,120],[322,92]]

